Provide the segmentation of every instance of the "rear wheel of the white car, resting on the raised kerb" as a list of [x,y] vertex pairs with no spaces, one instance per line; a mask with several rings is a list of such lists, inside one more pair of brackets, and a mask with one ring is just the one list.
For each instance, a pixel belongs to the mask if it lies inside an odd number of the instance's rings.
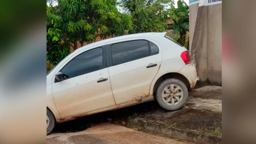
[[[176,90],[177,94],[181,94],[181,92],[183,92],[183,95],[176,96],[176,93],[174,94],[173,92],[171,92],[171,88],[170,88],[171,86],[173,87],[173,91]],[[167,88],[168,91],[170,90],[169,92],[171,94],[170,94],[169,97],[162,98],[162,95],[163,95],[163,97],[168,95],[168,92],[166,93],[166,91],[164,90],[165,88]],[[182,96],[182,99],[181,99],[181,96]],[[168,111],[175,111],[175,110],[178,110],[181,107],[183,107],[186,103],[187,97],[188,97],[187,87],[182,81],[180,81],[178,79],[164,80],[159,85],[159,87],[157,88],[157,91],[156,91],[156,101],[157,101],[157,103],[162,108],[164,108],[165,110],[168,110]],[[169,99],[170,99],[170,103],[168,103]],[[174,103],[172,103],[172,99],[173,99]],[[178,99],[179,100],[181,99],[181,100],[178,102]],[[167,102],[167,103],[165,103],[164,101]],[[177,103],[177,104],[175,105],[175,103]]]

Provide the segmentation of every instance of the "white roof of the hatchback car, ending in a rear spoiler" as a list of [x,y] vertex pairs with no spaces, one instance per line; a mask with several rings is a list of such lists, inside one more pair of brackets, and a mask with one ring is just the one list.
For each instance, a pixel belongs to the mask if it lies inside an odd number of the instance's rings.
[[102,43],[107,43],[107,42],[126,39],[126,38],[133,38],[133,37],[145,37],[145,36],[151,35],[151,34],[164,36],[166,34],[166,32],[144,32],[144,33],[135,33],[135,34],[127,34],[127,35],[122,35],[122,36],[116,36],[116,37],[112,37],[112,38],[108,38],[108,39],[104,39],[104,40],[100,40],[100,41],[96,41],[96,42],[87,44],[85,46],[82,46],[81,48],[76,49],[75,51],[80,51],[80,50],[89,48],[89,47],[94,46],[94,45],[102,44]]

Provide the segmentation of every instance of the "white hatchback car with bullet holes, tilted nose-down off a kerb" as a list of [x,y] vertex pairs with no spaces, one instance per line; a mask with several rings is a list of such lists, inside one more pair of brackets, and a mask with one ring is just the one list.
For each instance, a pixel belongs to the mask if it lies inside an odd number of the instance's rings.
[[166,32],[88,44],[47,74],[47,135],[56,123],[154,99],[177,110],[197,81],[189,52]]

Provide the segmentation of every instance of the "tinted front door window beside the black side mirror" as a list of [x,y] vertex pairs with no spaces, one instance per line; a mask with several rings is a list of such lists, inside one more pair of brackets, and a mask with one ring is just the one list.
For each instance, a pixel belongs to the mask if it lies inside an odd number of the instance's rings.
[[78,55],[63,67],[61,72],[73,78],[102,68],[103,50],[99,47]]

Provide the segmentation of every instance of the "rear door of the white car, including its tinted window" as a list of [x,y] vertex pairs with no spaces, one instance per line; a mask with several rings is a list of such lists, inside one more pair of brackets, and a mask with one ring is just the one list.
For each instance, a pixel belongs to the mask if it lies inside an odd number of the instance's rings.
[[148,38],[107,43],[109,76],[116,104],[149,97],[161,64],[161,48]]

